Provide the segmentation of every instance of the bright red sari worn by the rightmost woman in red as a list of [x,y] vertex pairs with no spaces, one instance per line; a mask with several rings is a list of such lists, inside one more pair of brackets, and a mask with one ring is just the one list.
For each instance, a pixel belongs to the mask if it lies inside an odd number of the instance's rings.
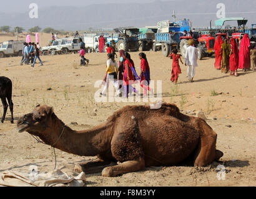
[[247,34],[244,35],[240,43],[239,50],[239,68],[250,68],[250,39]]

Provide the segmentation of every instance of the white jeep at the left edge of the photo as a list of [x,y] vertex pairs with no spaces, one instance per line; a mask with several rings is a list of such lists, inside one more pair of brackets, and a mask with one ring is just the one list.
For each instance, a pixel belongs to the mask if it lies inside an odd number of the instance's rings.
[[0,58],[9,57],[9,56],[22,56],[22,50],[24,47],[25,41],[14,41],[8,40],[2,42],[0,48]]

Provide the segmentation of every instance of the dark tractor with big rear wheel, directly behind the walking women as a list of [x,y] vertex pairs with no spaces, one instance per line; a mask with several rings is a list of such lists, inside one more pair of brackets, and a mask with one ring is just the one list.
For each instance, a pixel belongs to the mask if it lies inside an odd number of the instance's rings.
[[[106,37],[107,44],[111,45],[116,51],[124,50],[138,51],[139,50],[139,29],[136,27],[119,27],[114,29],[115,34]],[[107,49],[106,45],[104,47]]]

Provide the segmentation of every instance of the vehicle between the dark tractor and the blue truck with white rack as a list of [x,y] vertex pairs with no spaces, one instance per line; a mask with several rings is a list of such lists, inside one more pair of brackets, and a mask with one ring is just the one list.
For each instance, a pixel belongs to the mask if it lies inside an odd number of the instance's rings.
[[139,29],[139,32],[139,51],[152,50],[153,42],[155,40],[155,33],[157,33],[157,27],[142,27]]

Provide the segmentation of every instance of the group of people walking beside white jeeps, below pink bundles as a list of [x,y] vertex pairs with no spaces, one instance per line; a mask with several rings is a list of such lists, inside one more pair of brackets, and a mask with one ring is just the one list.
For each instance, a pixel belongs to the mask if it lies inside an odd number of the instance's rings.
[[28,44],[25,42],[24,47],[22,49],[22,59],[21,59],[21,65],[23,63],[26,63],[26,65],[29,65],[31,63],[31,67],[34,67],[36,60],[38,58],[39,62],[41,63],[41,66],[43,66],[42,60],[40,58],[41,51],[40,51],[40,45],[39,43],[35,44],[34,42],[29,42]]

